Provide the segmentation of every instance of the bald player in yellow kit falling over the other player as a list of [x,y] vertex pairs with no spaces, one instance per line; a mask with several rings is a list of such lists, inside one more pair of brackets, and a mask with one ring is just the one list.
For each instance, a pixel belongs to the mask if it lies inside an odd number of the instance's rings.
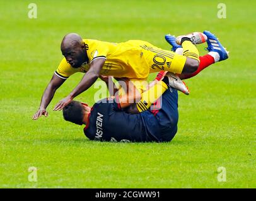
[[[149,73],[165,70],[172,73],[193,73],[199,66],[199,52],[192,40],[197,38],[203,43],[202,33],[192,33],[179,38],[177,43],[183,47],[183,55],[162,50],[147,41],[129,40],[124,43],[82,39],[71,33],[64,36],[61,43],[62,59],[41,99],[38,111],[33,119],[48,115],[46,107],[64,81],[73,73],[86,73],[76,88],[62,99],[54,110],[61,110],[77,95],[87,90],[100,77],[112,75],[115,78],[128,78],[132,81],[144,81]],[[136,85],[137,87],[137,85]],[[143,85],[137,88],[143,92]]]

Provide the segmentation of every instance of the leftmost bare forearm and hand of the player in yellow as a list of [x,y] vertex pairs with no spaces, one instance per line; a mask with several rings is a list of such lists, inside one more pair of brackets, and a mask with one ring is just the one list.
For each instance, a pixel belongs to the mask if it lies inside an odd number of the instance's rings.
[[41,103],[38,108],[38,111],[35,112],[34,116],[32,117],[33,120],[38,119],[40,116],[44,115],[45,117],[48,116],[48,112],[46,111],[47,106],[50,104],[50,101],[54,97],[55,91],[65,82],[65,79],[61,79],[57,77],[57,75],[52,75],[52,79],[50,80],[49,84],[47,85],[44,94],[42,95]]

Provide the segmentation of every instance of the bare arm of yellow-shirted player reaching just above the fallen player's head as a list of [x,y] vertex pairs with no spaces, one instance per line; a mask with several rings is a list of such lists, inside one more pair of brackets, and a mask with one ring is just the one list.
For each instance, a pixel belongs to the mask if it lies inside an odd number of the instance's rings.
[[61,111],[63,107],[67,106],[67,104],[74,99],[74,97],[89,89],[100,76],[100,70],[102,70],[104,63],[105,59],[103,58],[93,60],[90,64],[90,69],[86,72],[81,82],[79,82],[76,88],[74,88],[66,98],[62,99],[55,105],[54,111]]

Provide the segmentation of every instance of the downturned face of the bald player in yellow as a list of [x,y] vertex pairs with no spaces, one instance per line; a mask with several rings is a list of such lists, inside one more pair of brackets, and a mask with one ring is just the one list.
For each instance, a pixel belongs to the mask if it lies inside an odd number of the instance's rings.
[[67,48],[62,50],[62,55],[73,68],[79,68],[86,62],[86,50],[83,46],[73,46],[73,48]]

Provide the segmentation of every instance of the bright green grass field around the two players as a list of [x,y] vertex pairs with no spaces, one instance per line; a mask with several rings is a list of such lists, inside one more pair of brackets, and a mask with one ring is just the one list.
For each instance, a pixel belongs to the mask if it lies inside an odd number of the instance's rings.
[[[37,4],[37,19],[28,4]],[[255,1],[1,1],[1,188],[255,188]],[[166,33],[210,30],[230,58],[190,80],[179,94],[178,133],[170,143],[100,143],[52,111],[78,84],[57,90],[49,117],[32,121],[61,61],[66,33],[104,41],[146,40],[170,49]],[[206,54],[199,45],[201,55]],[[154,75],[150,76],[153,79]],[[93,104],[96,89],[76,100]],[[37,182],[29,182],[35,166]],[[226,182],[218,182],[218,168]]]

